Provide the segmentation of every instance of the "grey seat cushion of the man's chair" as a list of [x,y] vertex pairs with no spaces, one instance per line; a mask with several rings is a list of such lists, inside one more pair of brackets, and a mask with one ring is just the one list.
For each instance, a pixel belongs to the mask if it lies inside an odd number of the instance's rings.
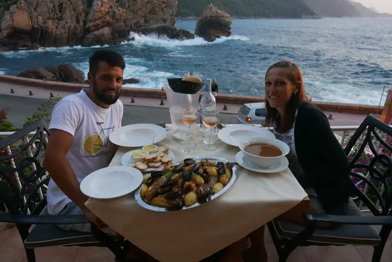
[[[42,214],[48,214],[45,208]],[[26,248],[67,246],[99,243],[91,233],[69,232],[56,225],[33,225],[30,234],[25,239]]]

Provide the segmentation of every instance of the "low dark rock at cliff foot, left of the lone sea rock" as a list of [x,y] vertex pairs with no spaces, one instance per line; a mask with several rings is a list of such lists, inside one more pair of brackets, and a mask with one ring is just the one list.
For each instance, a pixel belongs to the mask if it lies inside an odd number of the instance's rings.
[[144,35],[155,34],[160,36],[167,36],[171,39],[186,40],[194,39],[195,35],[184,29],[177,29],[177,27],[171,24],[156,24],[152,26],[141,27],[136,30],[137,33]]

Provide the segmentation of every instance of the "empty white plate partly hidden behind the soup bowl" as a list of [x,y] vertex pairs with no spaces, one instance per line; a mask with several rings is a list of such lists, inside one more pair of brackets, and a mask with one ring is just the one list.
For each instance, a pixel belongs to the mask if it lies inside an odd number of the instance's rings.
[[229,125],[218,132],[221,141],[233,146],[239,146],[241,140],[254,136],[275,138],[271,131],[254,125]]

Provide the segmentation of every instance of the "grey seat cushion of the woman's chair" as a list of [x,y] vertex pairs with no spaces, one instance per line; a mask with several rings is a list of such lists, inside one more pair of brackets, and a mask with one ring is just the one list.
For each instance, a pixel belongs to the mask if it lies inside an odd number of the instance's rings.
[[[350,200],[347,215],[363,216],[364,214]],[[291,239],[305,229],[304,226],[281,219],[274,219],[272,223],[281,238]],[[371,225],[347,224],[334,229],[318,229],[308,241],[326,244],[377,246],[380,243],[380,237],[377,230]]]

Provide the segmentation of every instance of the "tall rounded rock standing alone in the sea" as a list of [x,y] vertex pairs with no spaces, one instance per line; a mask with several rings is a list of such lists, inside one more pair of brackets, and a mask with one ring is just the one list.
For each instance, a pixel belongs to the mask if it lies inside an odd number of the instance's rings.
[[208,42],[213,42],[216,38],[230,36],[232,23],[233,21],[226,12],[210,4],[197,21],[195,34]]

